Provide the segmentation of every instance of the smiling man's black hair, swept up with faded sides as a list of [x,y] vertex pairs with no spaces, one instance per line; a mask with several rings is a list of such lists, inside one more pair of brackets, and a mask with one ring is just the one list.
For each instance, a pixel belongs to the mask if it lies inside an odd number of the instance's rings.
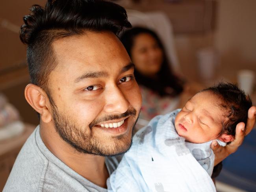
[[103,0],[48,0],[45,8],[33,5],[24,16],[20,39],[28,44],[31,82],[47,90],[48,75],[56,67],[52,42],[87,31],[111,31],[118,35],[131,27],[123,7]]

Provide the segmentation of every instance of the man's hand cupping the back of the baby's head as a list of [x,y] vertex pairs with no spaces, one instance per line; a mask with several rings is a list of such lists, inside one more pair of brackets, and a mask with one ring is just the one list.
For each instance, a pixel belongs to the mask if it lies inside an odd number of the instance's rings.
[[254,124],[255,124],[255,119],[256,119],[256,107],[252,106],[248,110],[248,119],[247,119],[246,129],[245,129],[244,123],[240,122],[239,124],[237,124],[236,136],[234,141],[232,141],[229,145],[225,147],[219,146],[217,141],[213,141],[211,143],[211,149],[215,154],[214,166],[217,165],[219,162],[223,161],[231,153],[236,152],[238,147],[243,143],[243,139],[245,138],[245,135],[248,135],[250,131],[252,131],[252,128],[254,127]]

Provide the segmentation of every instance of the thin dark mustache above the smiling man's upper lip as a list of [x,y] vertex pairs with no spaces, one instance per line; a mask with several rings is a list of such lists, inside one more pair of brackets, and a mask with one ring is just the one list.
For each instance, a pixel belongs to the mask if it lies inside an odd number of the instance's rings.
[[137,111],[134,108],[128,109],[125,113],[122,113],[120,115],[108,115],[108,116],[104,116],[102,118],[98,118],[96,120],[93,120],[90,124],[89,127],[90,129],[93,126],[96,126],[102,122],[106,122],[106,121],[110,121],[110,120],[116,120],[116,119],[121,119],[124,117],[128,117],[128,116],[132,116],[132,115],[136,115]]

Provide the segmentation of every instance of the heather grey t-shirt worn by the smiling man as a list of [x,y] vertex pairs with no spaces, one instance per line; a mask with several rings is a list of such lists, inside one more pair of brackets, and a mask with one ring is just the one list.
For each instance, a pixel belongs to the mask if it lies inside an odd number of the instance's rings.
[[[39,133],[30,135],[13,165],[3,192],[107,192],[88,181],[51,153]],[[106,158],[109,175],[117,168],[117,158]],[[82,169],[82,167],[81,167]]]

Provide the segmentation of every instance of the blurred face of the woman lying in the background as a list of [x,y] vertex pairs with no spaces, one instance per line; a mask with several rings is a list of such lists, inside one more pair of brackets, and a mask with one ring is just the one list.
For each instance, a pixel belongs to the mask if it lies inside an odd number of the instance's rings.
[[161,68],[163,52],[152,35],[141,33],[134,38],[131,59],[141,74],[154,76]]

